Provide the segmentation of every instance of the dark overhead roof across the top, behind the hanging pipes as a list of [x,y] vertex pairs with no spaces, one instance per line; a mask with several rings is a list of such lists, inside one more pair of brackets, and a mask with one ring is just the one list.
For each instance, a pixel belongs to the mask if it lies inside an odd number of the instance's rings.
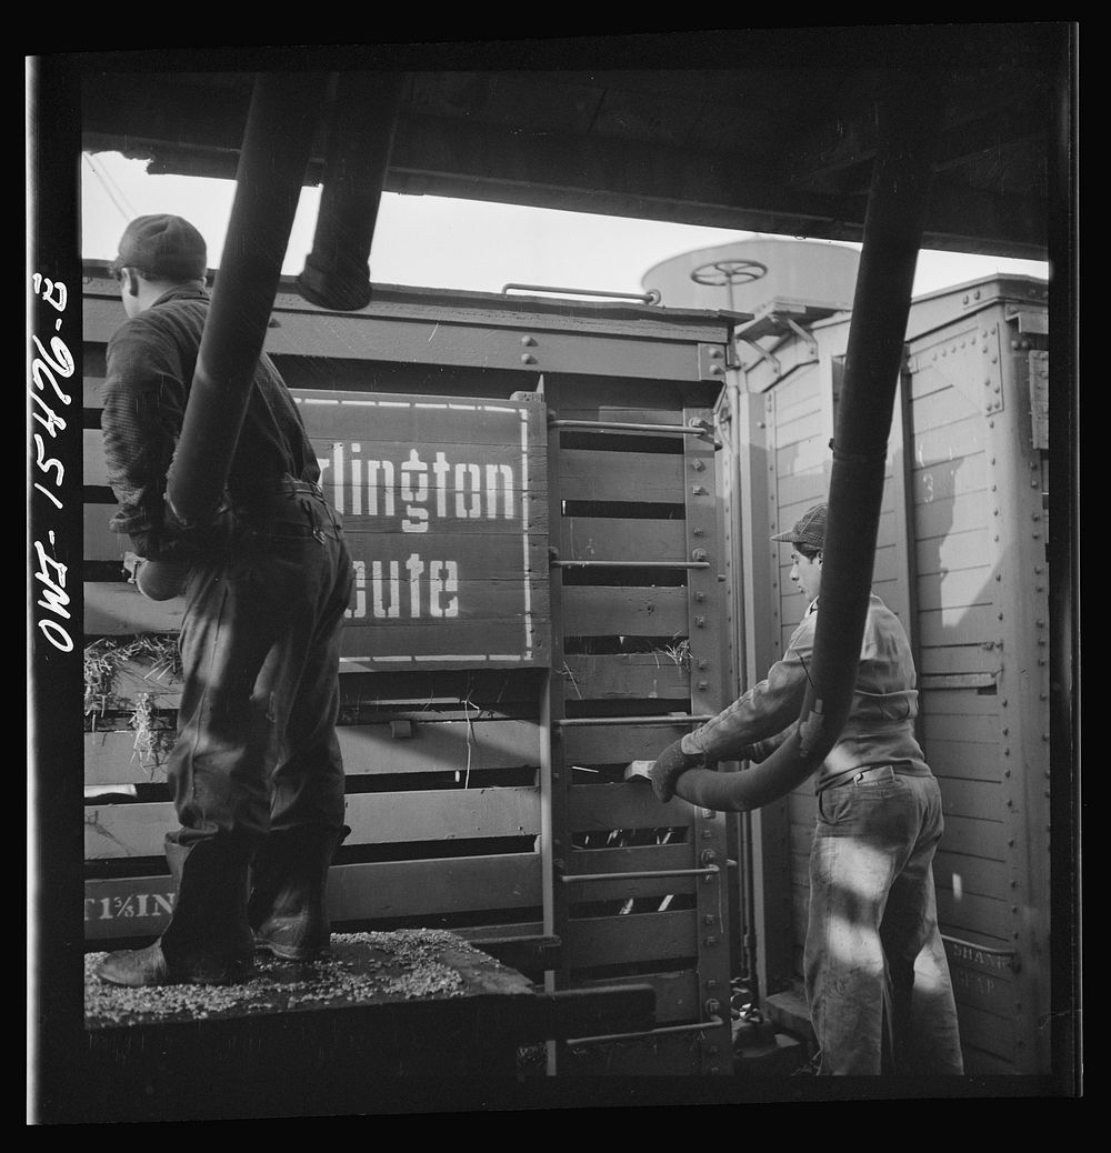
[[[1001,35],[991,30],[989,43]],[[1049,73],[1009,40],[1008,68],[974,67],[975,42],[945,42],[963,52],[962,95],[939,148],[923,243],[1044,259]],[[853,38],[855,48],[866,43]],[[827,61],[831,75],[783,67],[787,59],[705,81],[701,69],[674,68],[412,73],[383,189],[859,242],[874,70],[859,51],[851,68]],[[215,83],[102,74],[83,93],[84,146],[149,158],[151,173],[232,179],[248,96],[232,74]],[[307,183],[321,181],[323,143]]]

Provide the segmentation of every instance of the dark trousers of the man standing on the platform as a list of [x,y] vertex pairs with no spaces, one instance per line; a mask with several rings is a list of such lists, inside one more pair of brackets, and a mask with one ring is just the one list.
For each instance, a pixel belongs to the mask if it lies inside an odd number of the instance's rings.
[[180,634],[178,740],[167,766],[181,828],[248,861],[270,832],[339,830],[339,645],[352,565],[316,485],[237,500],[197,563]]

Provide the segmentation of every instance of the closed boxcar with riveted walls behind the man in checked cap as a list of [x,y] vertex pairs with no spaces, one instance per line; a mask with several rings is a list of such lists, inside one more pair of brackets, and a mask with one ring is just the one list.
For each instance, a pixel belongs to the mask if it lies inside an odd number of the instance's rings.
[[[768,536],[823,499],[847,312],[775,310],[738,345],[749,676],[805,605]],[[785,309],[785,314],[789,310]],[[966,1067],[1045,1073],[1050,1033],[1046,286],[992,278],[915,301],[893,421],[874,589],[907,627],[919,731],[946,831],[934,876]],[[797,1007],[815,820],[804,785],[755,819],[761,989]]]

